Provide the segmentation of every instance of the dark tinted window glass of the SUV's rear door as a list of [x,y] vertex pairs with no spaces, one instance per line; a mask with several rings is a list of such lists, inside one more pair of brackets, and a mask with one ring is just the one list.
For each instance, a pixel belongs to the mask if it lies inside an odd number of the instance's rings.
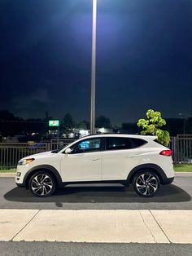
[[129,148],[132,148],[132,142],[129,138],[106,138],[106,150],[120,150]]

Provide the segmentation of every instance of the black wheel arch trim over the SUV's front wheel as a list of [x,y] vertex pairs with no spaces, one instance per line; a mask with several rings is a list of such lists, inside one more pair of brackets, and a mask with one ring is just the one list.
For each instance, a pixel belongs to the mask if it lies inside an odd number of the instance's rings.
[[32,169],[28,170],[28,172],[24,176],[24,187],[28,188],[28,182],[29,179],[33,176],[33,174],[37,173],[39,170],[46,170],[47,173],[51,174],[56,183],[56,188],[60,188],[62,185],[62,179],[59,174],[59,171],[55,169],[54,166],[50,165],[41,165],[41,166],[35,166]]

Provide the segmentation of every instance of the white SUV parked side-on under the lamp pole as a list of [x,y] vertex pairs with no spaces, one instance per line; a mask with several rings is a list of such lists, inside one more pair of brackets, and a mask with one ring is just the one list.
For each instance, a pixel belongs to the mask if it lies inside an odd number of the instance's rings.
[[22,158],[15,182],[34,196],[50,196],[71,183],[133,183],[138,195],[149,197],[160,183],[172,183],[171,155],[155,136],[90,135],[60,151]]

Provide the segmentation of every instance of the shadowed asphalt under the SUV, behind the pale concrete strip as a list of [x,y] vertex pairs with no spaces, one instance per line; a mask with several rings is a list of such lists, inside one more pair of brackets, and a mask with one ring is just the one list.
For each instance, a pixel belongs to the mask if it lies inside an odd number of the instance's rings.
[[132,186],[103,184],[68,186],[55,195],[38,198],[25,188],[17,188],[13,178],[0,178],[0,209],[122,209],[192,210],[192,174],[177,174],[152,198],[137,196]]

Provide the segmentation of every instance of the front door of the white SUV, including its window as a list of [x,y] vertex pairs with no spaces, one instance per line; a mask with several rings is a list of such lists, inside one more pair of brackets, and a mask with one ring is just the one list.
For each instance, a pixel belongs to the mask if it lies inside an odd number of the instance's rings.
[[71,149],[72,152],[63,153],[61,159],[63,182],[101,180],[103,139],[83,139]]

